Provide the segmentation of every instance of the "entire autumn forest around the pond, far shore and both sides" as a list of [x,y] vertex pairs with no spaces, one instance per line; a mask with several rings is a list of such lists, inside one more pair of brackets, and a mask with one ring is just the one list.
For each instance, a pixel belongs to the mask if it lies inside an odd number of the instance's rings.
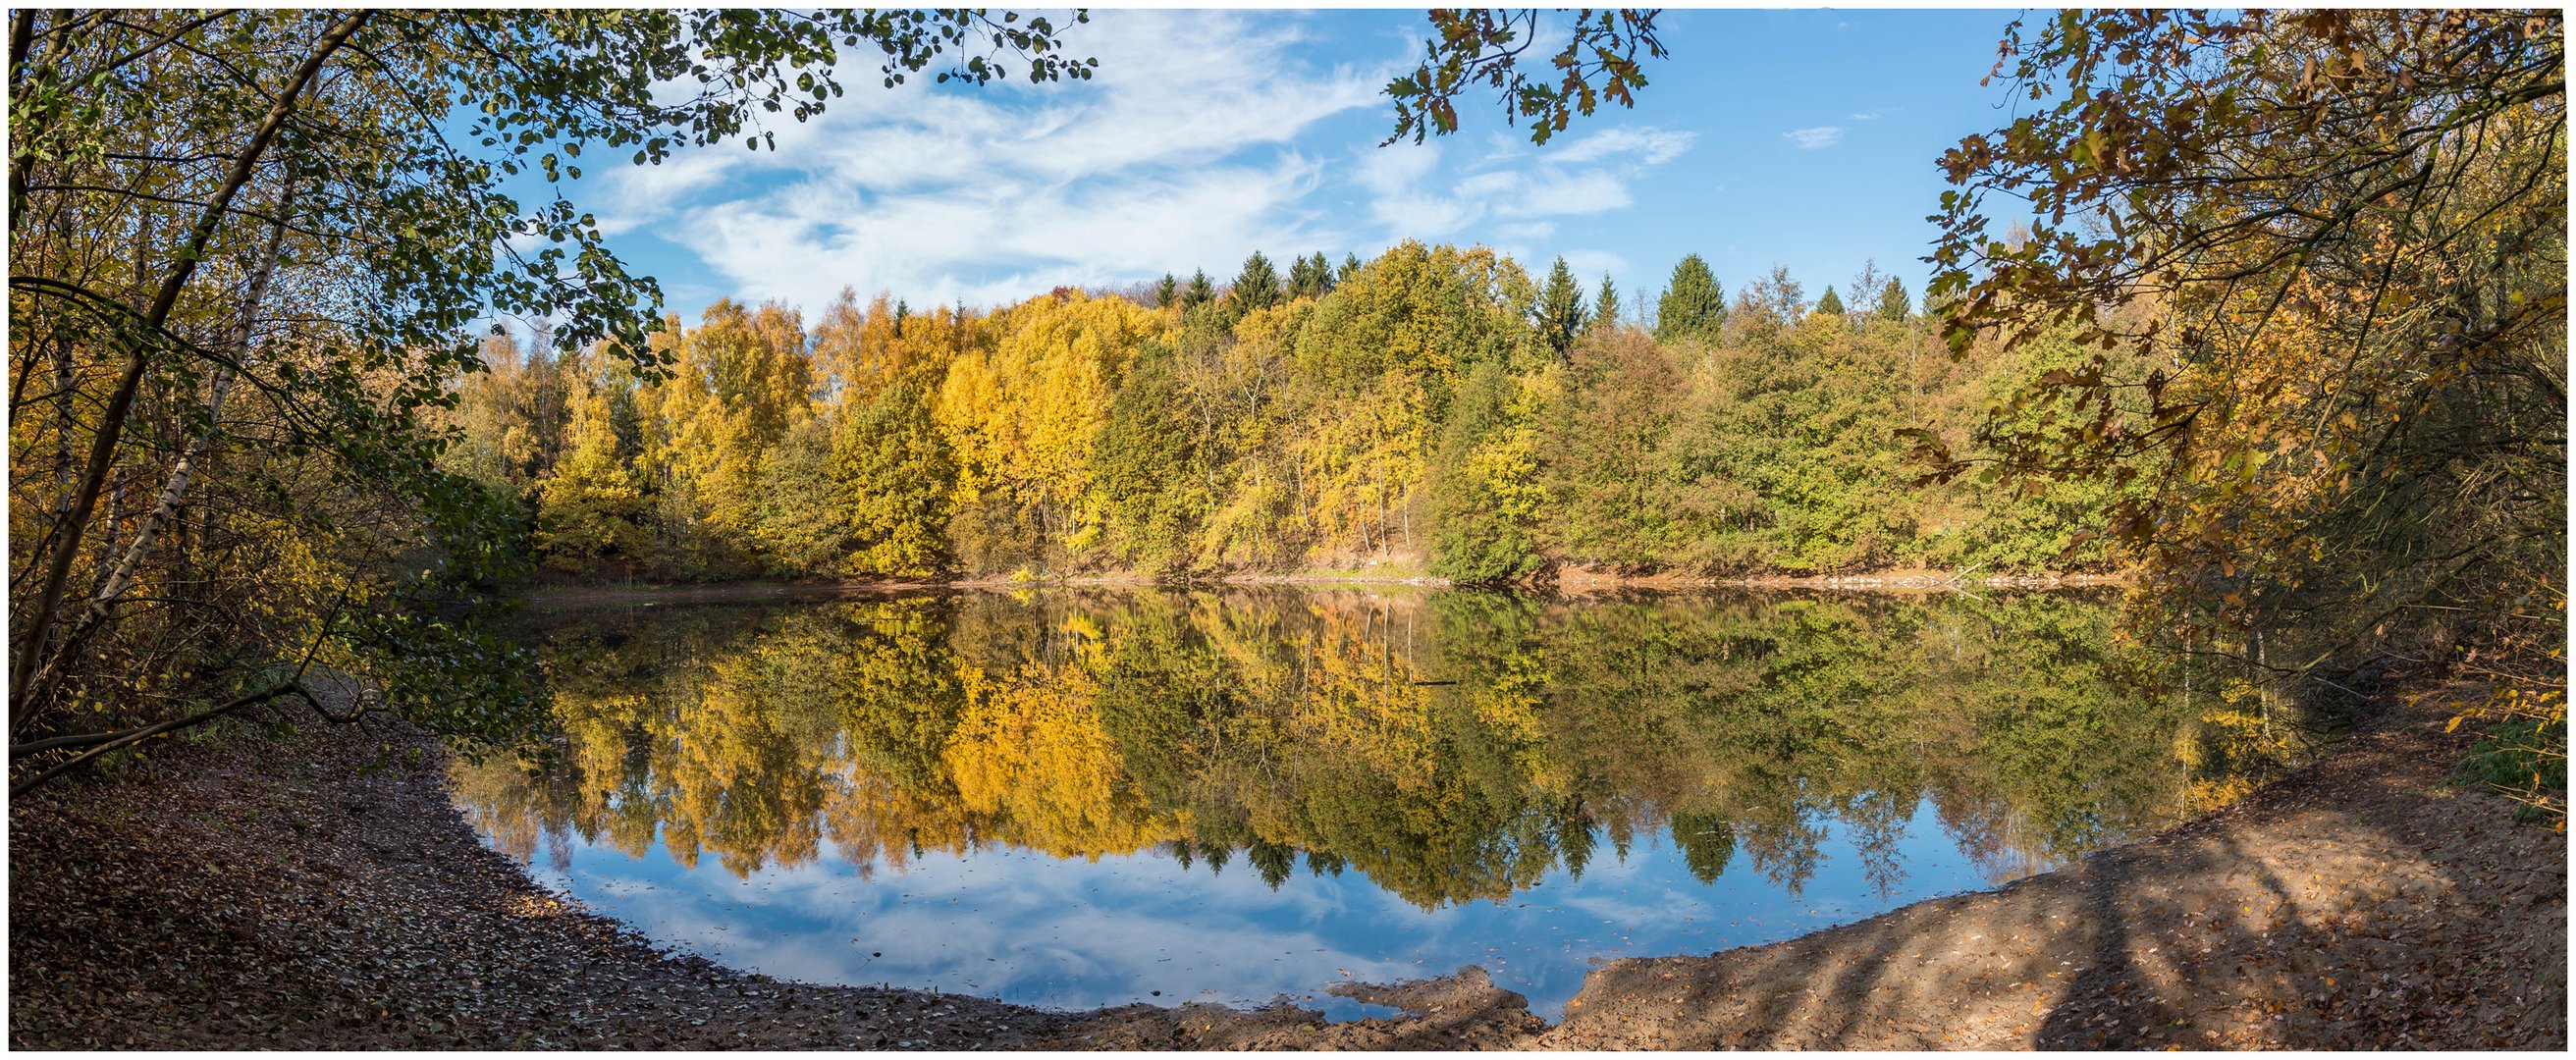
[[[1492,93],[1543,144],[1667,57],[1535,18],[1432,13],[1388,142]],[[1399,242],[690,322],[559,188],[873,82],[1079,82],[1082,21],[13,13],[13,790],[270,702],[515,746],[533,576],[1924,566],[2120,571],[2128,646],[2282,695],[2442,666],[2563,810],[2558,15],[2017,21],[1919,293]]]

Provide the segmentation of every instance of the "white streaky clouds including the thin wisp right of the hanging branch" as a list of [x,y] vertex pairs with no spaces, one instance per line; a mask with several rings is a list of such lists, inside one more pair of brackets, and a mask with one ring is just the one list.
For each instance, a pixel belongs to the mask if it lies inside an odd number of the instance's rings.
[[1301,33],[1267,13],[1113,10],[1066,41],[1100,57],[1090,82],[853,77],[866,87],[822,118],[778,123],[775,152],[734,142],[592,178],[600,224],[706,265],[703,286],[670,286],[683,314],[696,293],[819,309],[842,286],[992,306],[1164,270],[1221,280],[1252,250],[1535,247],[1556,219],[1631,206],[1631,183],[1695,142],[1633,126],[1533,147],[1515,129],[1489,131],[1479,157],[1461,142],[1376,147],[1376,123],[1340,139],[1342,118],[1383,108],[1417,44],[1334,67],[1309,62]]

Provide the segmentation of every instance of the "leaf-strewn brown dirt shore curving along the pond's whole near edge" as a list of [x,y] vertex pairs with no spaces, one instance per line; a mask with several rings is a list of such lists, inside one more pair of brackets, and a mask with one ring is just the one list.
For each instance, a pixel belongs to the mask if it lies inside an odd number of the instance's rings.
[[[392,749],[386,759],[384,749]],[[394,733],[232,728],[10,805],[13,1047],[2014,1050],[2568,1045],[2566,836],[2383,708],[2246,803],[2014,885],[1404,1019],[773,983],[536,888]]]

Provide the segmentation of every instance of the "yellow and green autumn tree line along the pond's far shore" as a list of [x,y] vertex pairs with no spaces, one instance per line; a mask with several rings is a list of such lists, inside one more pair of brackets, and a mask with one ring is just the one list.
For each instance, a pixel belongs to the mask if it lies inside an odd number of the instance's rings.
[[443,466],[580,576],[2107,563],[2076,535],[2117,491],[1919,489],[1899,437],[1968,443],[2074,350],[1950,358],[1901,280],[1852,288],[1728,298],[1692,255],[1631,316],[1564,260],[1404,242],[992,311],[719,301],[652,337],[665,378],[495,329]]

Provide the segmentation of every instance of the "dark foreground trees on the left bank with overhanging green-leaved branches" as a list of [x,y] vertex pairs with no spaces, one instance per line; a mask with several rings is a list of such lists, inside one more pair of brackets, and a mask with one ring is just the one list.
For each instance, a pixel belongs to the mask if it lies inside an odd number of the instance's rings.
[[[304,661],[433,731],[515,726],[526,666],[459,605],[526,543],[513,504],[438,468],[422,412],[482,368],[474,319],[644,352],[659,291],[572,201],[502,188],[809,118],[840,95],[840,49],[881,54],[884,80],[951,46],[976,51],[948,69],[971,82],[1090,72],[1054,44],[1051,21],[963,10],[15,13],[18,785],[312,700]],[[659,93],[672,80],[703,90]],[[155,548],[183,525],[185,548]],[[198,548],[209,530],[227,548]],[[446,563],[422,576],[420,556]]]

